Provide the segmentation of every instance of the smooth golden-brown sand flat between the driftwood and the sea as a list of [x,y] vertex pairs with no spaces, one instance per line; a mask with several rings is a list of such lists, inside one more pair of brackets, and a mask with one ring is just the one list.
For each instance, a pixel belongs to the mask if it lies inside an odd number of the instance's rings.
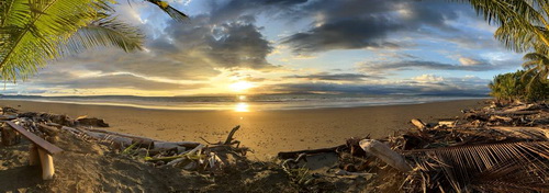
[[412,118],[434,122],[461,115],[460,110],[479,107],[482,100],[433,102],[425,104],[285,110],[264,112],[170,111],[125,106],[82,105],[29,101],[0,101],[1,106],[21,111],[67,114],[71,117],[101,117],[114,132],[170,141],[224,140],[235,125],[235,138],[251,148],[251,159],[267,160],[279,151],[330,147],[352,136],[373,138],[411,127]]

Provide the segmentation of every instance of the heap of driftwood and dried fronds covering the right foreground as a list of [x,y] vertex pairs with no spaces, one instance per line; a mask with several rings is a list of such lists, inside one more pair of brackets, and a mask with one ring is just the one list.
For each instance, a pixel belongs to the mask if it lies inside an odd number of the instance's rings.
[[[441,120],[434,126],[414,118],[413,129],[377,140],[360,139],[363,152],[352,150],[357,138],[349,138],[341,146],[284,151],[278,158],[336,152],[336,175],[373,173],[370,183],[399,184],[403,192],[549,190],[549,106],[544,102],[489,104],[463,110],[462,117]],[[401,175],[400,183],[383,180]],[[391,185],[382,186],[377,191],[394,191]]]

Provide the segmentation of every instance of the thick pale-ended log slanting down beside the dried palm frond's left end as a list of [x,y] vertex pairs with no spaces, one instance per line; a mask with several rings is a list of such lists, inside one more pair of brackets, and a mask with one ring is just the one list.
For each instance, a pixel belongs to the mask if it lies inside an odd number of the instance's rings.
[[386,162],[389,166],[402,171],[407,172],[412,170],[412,168],[406,163],[404,158],[393,151],[388,145],[380,143],[374,139],[363,139],[360,140],[360,147],[365,149],[366,152],[369,152],[379,159]]

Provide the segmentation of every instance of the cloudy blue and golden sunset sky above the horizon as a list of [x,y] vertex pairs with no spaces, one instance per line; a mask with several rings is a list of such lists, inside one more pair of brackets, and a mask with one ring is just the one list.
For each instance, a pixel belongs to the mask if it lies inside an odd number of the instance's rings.
[[98,48],[52,61],[3,94],[486,94],[524,54],[467,3],[445,0],[120,1],[145,50]]

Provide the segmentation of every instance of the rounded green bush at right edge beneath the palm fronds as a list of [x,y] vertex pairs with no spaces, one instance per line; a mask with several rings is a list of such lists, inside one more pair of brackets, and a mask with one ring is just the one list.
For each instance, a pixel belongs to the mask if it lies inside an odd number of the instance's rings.
[[534,79],[535,76],[524,70],[497,75],[489,84],[490,95],[506,102],[549,99],[549,84]]

